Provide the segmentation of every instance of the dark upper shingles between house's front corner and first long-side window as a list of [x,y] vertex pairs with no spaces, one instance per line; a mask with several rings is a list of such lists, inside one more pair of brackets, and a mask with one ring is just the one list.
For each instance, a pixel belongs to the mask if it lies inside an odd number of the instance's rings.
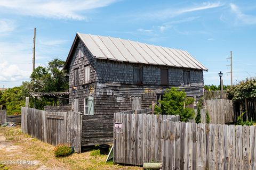
[[97,61],[99,82],[133,84],[133,65],[108,60]]

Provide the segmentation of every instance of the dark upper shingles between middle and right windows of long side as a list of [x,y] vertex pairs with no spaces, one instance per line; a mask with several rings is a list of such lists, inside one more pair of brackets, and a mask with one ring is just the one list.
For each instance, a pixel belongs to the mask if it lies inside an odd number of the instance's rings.
[[168,81],[171,86],[184,86],[183,69],[176,67],[169,67]]

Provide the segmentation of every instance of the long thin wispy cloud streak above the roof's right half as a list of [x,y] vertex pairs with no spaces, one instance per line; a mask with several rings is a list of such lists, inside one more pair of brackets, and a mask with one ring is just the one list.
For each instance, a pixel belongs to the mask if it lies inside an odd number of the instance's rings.
[[175,16],[189,13],[189,12],[195,12],[195,11],[202,11],[210,8],[217,8],[222,6],[221,3],[210,3],[210,2],[204,2],[200,5],[193,6],[193,7],[187,7],[187,8],[180,8],[178,10],[175,10],[173,8],[167,8],[165,10],[156,11],[156,12],[150,12],[142,15],[142,18],[151,18],[151,19],[168,19],[173,18]]

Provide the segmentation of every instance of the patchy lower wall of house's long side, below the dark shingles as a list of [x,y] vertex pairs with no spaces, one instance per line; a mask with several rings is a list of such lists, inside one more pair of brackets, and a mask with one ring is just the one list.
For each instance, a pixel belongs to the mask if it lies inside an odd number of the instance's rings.
[[[111,83],[97,83],[94,95],[94,114],[113,114],[132,109],[133,97],[141,98],[141,108],[148,108],[152,101],[157,102],[157,95],[164,94],[173,86],[136,86]],[[199,100],[203,97],[202,87],[179,87],[188,97]]]

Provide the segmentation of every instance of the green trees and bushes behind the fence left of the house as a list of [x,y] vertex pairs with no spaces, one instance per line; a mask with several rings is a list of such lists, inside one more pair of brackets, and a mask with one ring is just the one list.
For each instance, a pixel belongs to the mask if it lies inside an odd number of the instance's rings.
[[[7,109],[7,114],[20,114],[21,106],[25,106],[25,98],[30,97],[29,105],[34,106],[34,100],[29,92],[62,92],[68,90],[66,72],[62,70],[64,61],[54,59],[46,67],[38,66],[31,74],[30,81],[22,82],[20,87],[9,88],[0,93],[0,105]],[[53,99],[42,97],[37,101],[37,108],[51,105]]]

